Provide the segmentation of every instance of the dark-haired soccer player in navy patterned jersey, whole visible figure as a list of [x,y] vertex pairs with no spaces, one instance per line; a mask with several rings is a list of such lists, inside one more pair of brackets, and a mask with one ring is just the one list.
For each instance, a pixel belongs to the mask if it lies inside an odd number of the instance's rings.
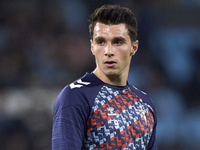
[[127,82],[138,49],[134,14],[119,5],[104,5],[89,23],[96,68],[59,94],[52,149],[157,150],[152,100]]

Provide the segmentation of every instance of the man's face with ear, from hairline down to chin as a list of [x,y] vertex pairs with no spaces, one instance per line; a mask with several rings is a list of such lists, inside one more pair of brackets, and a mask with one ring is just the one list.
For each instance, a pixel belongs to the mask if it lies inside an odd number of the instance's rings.
[[125,24],[96,23],[93,40],[91,40],[91,51],[95,56],[99,75],[128,74],[132,55],[137,49],[138,41],[131,42]]

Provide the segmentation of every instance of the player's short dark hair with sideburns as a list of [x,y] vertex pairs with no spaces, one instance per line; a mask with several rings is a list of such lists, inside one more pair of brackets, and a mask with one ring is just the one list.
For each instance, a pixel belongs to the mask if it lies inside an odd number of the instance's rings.
[[128,29],[128,34],[132,42],[137,39],[138,24],[133,12],[119,5],[103,5],[97,8],[89,18],[90,38],[93,39],[94,26],[97,22],[116,25],[124,23]]

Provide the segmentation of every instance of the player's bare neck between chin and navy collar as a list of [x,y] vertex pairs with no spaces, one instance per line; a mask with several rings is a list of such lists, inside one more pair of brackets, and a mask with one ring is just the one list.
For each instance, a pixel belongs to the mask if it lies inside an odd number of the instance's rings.
[[121,75],[106,75],[104,73],[100,73],[99,70],[95,69],[93,73],[104,83],[115,85],[115,86],[126,86],[128,74]]

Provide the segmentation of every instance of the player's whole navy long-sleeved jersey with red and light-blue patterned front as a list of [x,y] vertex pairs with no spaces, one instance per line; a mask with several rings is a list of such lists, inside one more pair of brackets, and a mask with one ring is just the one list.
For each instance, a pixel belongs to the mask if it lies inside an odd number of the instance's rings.
[[54,105],[52,150],[157,150],[150,97],[93,73],[67,85]]

